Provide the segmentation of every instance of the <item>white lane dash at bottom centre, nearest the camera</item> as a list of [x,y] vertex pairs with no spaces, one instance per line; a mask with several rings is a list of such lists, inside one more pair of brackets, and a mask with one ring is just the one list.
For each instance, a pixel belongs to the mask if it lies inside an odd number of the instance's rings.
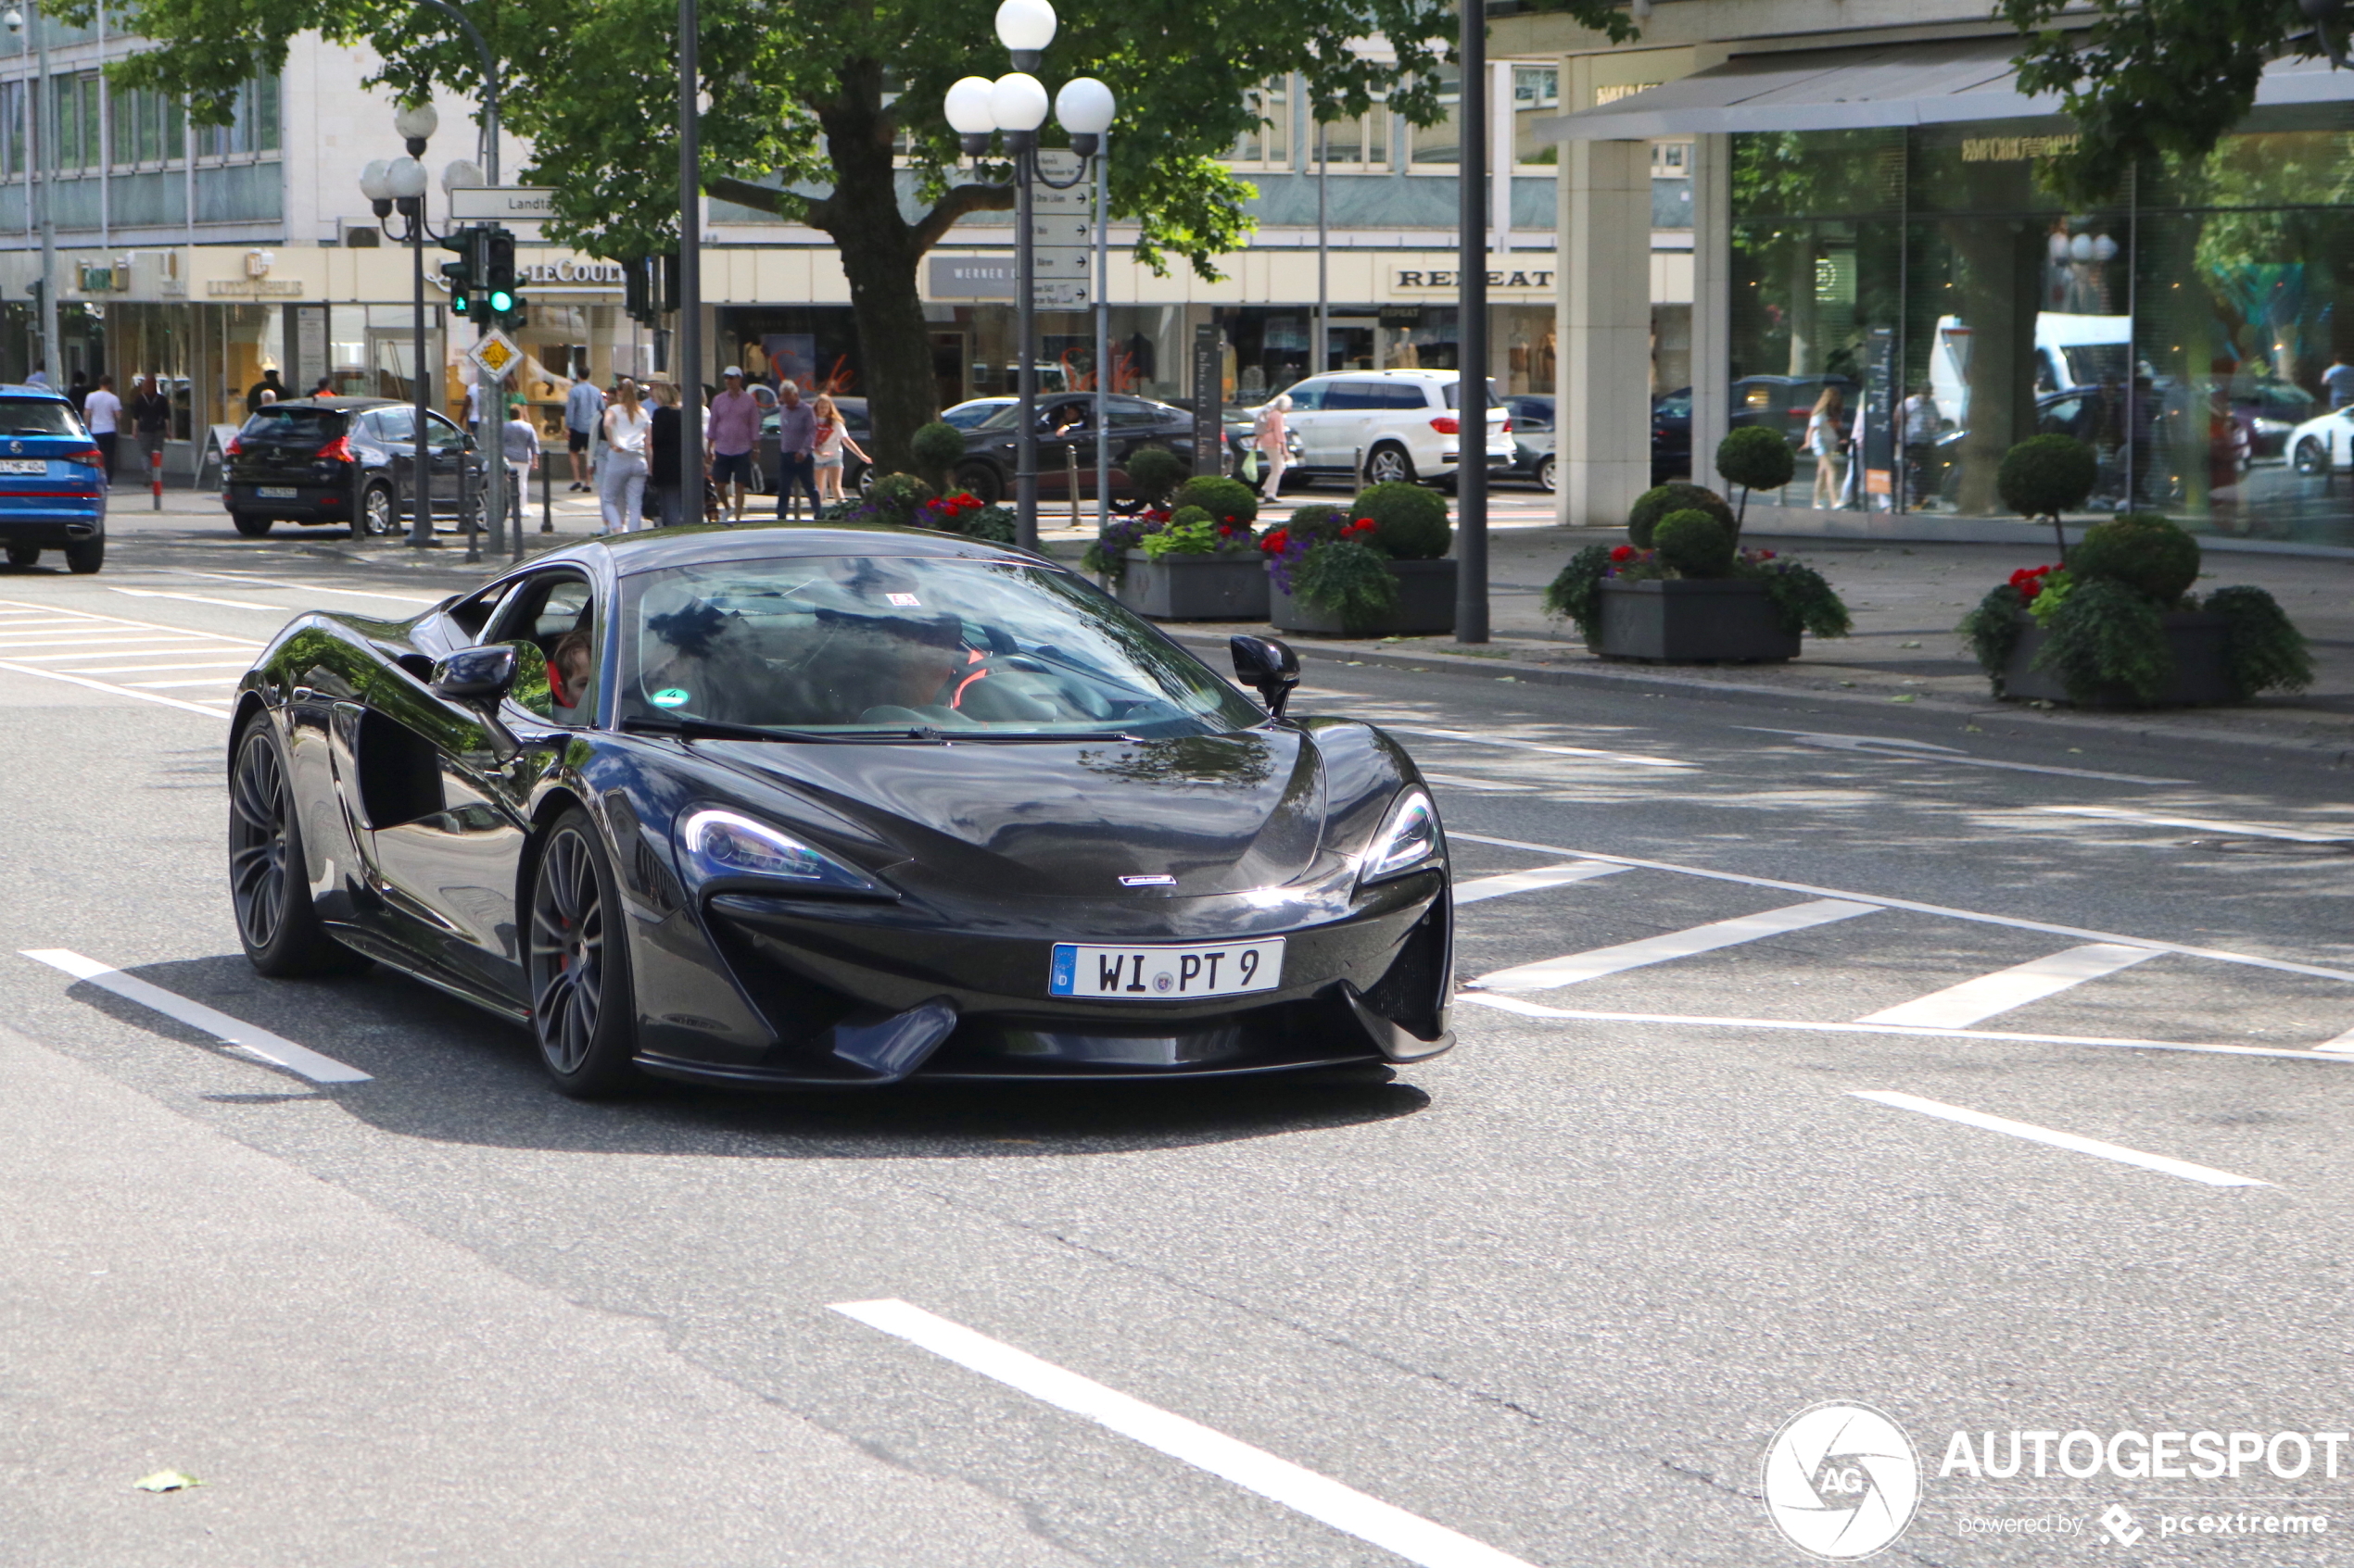
[[1212,1476],[1222,1476],[1243,1490],[1318,1519],[1344,1535],[1372,1542],[1384,1552],[1396,1552],[1410,1563],[1424,1563],[1424,1568],[1530,1568],[1518,1556],[1497,1552],[1469,1535],[1457,1535],[1379,1497],[1368,1497],[1351,1486],[1318,1476],[1314,1469],[1278,1460],[1264,1448],[1252,1448],[1224,1432],[1212,1432],[1201,1422],[1170,1415],[1118,1389],[1106,1389],[1092,1378],[1066,1373],[1050,1361],[975,1333],[963,1324],[951,1324],[923,1307],[911,1307],[902,1300],[871,1300],[833,1302],[833,1312],[918,1345],[935,1356],[956,1361],[1057,1410],[1083,1415],[1172,1460],[1208,1469]]

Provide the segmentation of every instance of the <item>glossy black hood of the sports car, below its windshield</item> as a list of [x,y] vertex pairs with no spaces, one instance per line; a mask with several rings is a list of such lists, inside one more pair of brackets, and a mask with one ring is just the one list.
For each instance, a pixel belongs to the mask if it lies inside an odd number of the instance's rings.
[[902,846],[895,882],[1118,896],[1241,893],[1309,870],[1325,837],[1325,769],[1292,729],[1090,743],[704,743]]

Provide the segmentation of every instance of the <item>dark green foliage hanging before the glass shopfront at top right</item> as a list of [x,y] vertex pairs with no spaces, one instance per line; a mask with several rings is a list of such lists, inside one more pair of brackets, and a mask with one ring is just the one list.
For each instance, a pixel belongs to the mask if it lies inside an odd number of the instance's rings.
[[2342,24],[2316,28],[2298,0],[1999,0],[1996,14],[2027,35],[2020,87],[2062,94],[2076,122],[2043,176],[2088,207],[2144,160],[2206,158],[2274,56],[2345,54]]

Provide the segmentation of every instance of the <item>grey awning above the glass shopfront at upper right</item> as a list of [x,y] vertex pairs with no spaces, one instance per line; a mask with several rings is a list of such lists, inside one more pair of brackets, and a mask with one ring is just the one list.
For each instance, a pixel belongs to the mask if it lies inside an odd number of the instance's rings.
[[[1740,54],[1723,66],[1540,120],[1542,141],[1643,141],[1709,132],[1846,132],[2057,115],[2060,96],[2020,92],[2015,35]],[[2354,99],[2326,59],[2274,61],[2257,106]]]

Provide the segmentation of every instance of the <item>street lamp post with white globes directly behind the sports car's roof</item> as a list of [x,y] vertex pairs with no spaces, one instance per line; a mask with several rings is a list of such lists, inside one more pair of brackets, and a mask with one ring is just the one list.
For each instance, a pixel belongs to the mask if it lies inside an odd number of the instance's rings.
[[[998,42],[1012,54],[1015,71],[996,82],[967,75],[949,87],[942,103],[949,127],[963,141],[965,155],[979,158],[989,150],[993,132],[1005,136],[1005,150],[1015,155],[1015,395],[1022,402],[1022,423],[1015,433],[1015,543],[1024,550],[1038,548],[1038,360],[1031,353],[1036,336],[1036,268],[1038,235],[1031,223],[1031,181],[1055,190],[1069,190],[1088,179],[1085,160],[1097,158],[1104,134],[1111,129],[1113,96],[1095,78],[1064,82],[1055,99],[1055,113],[1071,134],[1071,150],[1080,158],[1080,169],[1069,181],[1052,181],[1038,172],[1038,127],[1045,125],[1045,82],[1031,75],[1045,47],[1055,42],[1055,7],[1048,0],[1003,0],[998,5]],[[1097,214],[1102,223],[1102,212]],[[1102,289],[1104,280],[1095,280]],[[1104,367],[1097,364],[1097,378]],[[1102,402],[1102,400],[1097,400]],[[1097,444],[1104,440],[1102,418],[1095,430]]]

